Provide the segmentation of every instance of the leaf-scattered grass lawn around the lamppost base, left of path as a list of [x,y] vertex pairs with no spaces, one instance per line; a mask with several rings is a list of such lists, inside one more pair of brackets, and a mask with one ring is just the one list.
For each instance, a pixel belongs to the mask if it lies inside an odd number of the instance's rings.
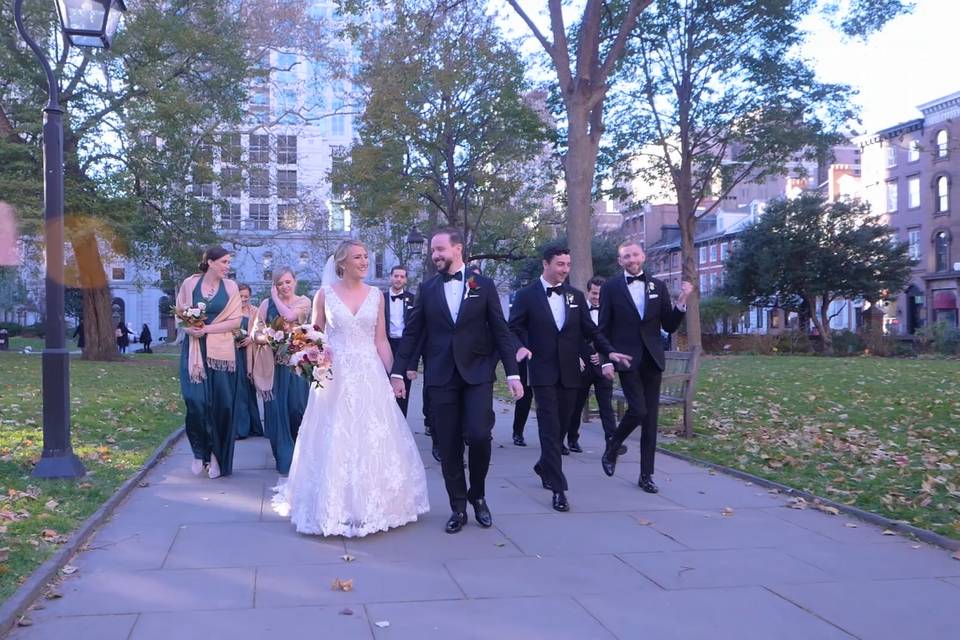
[[0,353],[0,600],[182,424],[176,364],[162,356],[73,359],[73,446],[88,475],[33,480],[42,448],[40,356]]

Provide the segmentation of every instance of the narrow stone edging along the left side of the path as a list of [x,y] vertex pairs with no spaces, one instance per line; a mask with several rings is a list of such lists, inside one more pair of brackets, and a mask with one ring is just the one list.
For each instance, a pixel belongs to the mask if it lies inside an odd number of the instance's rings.
[[67,564],[70,558],[93,536],[97,528],[109,518],[124,498],[132,492],[144,476],[157,465],[177,441],[183,437],[184,428],[180,427],[160,444],[144,465],[135,474],[127,478],[120,487],[100,505],[89,518],[70,536],[70,539],[60,547],[60,550],[37,567],[30,577],[24,581],[13,595],[0,606],[0,637],[5,637],[19,622],[23,614],[43,594],[46,588],[57,575],[60,569]]

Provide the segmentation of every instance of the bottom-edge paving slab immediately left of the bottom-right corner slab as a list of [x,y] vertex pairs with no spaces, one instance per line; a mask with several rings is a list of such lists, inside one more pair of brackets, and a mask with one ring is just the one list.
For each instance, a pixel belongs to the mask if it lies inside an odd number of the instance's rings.
[[577,600],[618,638],[851,640],[852,636],[760,587],[642,591]]

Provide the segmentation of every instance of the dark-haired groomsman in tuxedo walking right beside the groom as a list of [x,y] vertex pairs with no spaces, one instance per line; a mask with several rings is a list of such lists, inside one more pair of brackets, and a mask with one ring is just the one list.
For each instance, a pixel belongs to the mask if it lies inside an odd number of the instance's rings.
[[[582,346],[590,341],[611,361],[630,364],[630,357],[614,352],[590,319],[583,293],[564,284],[569,273],[570,251],[548,247],[543,253],[543,275],[517,292],[509,322],[522,345],[517,361],[527,360],[529,384],[537,402],[540,460],[533,470],[544,488],[553,491],[556,511],[570,510],[561,448],[586,366]],[[613,364],[604,368],[613,379]]]

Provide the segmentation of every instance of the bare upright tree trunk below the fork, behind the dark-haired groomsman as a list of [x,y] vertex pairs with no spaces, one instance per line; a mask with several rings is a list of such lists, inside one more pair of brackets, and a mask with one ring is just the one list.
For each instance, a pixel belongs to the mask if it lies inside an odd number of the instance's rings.
[[599,147],[589,131],[589,111],[569,108],[569,149],[564,158],[567,180],[567,246],[570,283],[586,291],[593,277],[593,178]]

